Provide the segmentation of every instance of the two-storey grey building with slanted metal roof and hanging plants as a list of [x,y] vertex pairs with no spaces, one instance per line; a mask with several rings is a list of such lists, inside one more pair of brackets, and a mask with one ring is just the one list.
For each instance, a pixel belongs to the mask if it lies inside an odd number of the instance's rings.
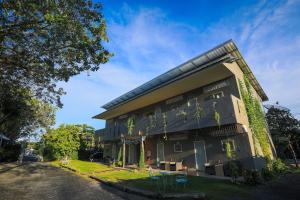
[[209,163],[228,161],[229,143],[243,167],[259,167],[257,158],[264,151],[243,102],[245,75],[261,107],[268,97],[229,40],[108,102],[106,111],[94,116],[106,120],[105,128],[96,131],[104,156],[116,159],[125,141],[126,164],[138,163],[143,137],[147,164],[183,161],[189,168],[204,170]]

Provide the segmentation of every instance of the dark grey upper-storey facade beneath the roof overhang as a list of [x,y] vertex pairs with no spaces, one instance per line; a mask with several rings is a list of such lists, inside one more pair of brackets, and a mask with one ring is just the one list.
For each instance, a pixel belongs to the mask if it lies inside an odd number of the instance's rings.
[[[223,94],[221,98],[208,99],[219,92]],[[221,116],[221,125],[236,123],[231,95],[239,97],[234,77],[107,120],[104,138],[117,139],[121,134],[126,135],[128,117],[134,118],[135,135],[139,131],[155,135],[217,126],[215,111]]]

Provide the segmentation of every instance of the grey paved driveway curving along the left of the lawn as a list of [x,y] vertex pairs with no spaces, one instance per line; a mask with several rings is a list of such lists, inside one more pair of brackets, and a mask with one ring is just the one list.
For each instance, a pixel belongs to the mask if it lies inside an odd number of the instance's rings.
[[41,163],[0,167],[2,200],[122,200],[146,198],[120,192],[96,181]]

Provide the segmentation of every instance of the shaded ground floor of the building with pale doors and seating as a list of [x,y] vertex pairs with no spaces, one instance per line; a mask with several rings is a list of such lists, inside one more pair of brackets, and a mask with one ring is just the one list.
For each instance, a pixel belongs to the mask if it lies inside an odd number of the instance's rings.
[[259,161],[259,158],[252,154],[247,132],[238,124],[168,134],[124,136],[123,140],[104,142],[103,155],[117,160],[125,142],[126,165],[137,165],[142,138],[145,163],[163,170],[188,169],[226,176],[229,174],[225,147],[227,142],[234,159],[242,168],[257,168]]

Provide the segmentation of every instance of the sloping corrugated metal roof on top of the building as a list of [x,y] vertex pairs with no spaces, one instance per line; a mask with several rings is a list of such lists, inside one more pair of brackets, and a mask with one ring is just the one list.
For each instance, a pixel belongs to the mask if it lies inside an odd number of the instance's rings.
[[164,74],[159,75],[158,77],[144,83],[143,85],[121,95],[120,97],[106,103],[102,106],[102,108],[106,110],[110,110],[115,108],[121,104],[124,104],[130,100],[137,98],[145,93],[148,93],[152,90],[155,90],[162,85],[170,82],[173,79],[176,79],[178,76],[186,74],[196,68],[202,68],[203,65],[212,62],[214,60],[220,59],[226,55],[231,56],[232,58],[236,58],[237,64],[240,66],[241,70],[248,75],[249,80],[253,86],[253,88],[257,91],[263,101],[268,100],[267,95],[259,85],[258,81],[254,77],[252,71],[247,65],[246,61],[242,57],[238,48],[236,47],[233,40],[228,40],[223,44],[216,46],[215,48],[196,56],[195,58],[167,71]]

